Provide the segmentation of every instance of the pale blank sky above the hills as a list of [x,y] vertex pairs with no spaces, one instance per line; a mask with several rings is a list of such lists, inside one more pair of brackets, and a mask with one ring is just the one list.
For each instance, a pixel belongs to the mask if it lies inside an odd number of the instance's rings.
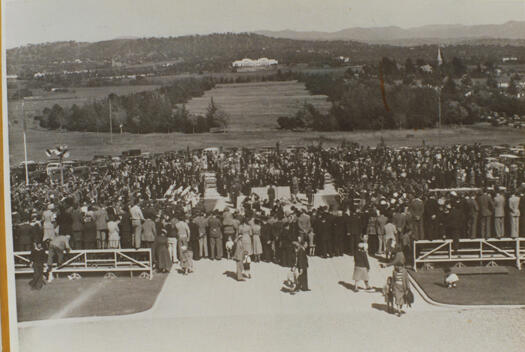
[[525,21],[525,0],[2,0],[7,48],[214,32]]

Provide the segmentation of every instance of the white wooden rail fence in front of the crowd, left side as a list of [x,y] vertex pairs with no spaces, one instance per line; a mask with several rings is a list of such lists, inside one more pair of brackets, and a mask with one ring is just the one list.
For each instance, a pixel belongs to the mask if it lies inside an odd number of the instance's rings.
[[[14,252],[15,275],[33,272],[31,252]],[[53,273],[146,272],[153,277],[151,249],[81,249],[64,253],[64,261],[53,265]]]

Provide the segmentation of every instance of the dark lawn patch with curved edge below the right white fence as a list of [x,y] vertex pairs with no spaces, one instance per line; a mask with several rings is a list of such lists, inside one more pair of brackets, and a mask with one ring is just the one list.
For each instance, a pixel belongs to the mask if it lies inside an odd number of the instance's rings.
[[509,268],[509,274],[459,275],[456,288],[443,284],[441,270],[410,272],[423,291],[439,303],[460,305],[525,305],[525,272]]

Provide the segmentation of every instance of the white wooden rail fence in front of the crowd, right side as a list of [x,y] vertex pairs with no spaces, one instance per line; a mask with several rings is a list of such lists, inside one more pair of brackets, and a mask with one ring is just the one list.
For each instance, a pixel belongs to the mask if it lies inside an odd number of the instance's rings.
[[521,270],[525,264],[525,238],[475,238],[414,241],[414,270],[418,264],[507,261]]

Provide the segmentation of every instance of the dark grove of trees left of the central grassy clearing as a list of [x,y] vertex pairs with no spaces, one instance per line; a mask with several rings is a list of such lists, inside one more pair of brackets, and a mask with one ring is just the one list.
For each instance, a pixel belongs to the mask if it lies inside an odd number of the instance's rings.
[[189,99],[199,97],[214,87],[210,79],[180,79],[172,85],[153,91],[118,96],[63,108],[55,104],[45,108],[35,120],[47,129],[68,131],[110,131],[110,109],[113,131],[122,128],[131,133],[206,132],[225,127],[227,116],[213,100],[206,116],[190,114],[185,106]]

